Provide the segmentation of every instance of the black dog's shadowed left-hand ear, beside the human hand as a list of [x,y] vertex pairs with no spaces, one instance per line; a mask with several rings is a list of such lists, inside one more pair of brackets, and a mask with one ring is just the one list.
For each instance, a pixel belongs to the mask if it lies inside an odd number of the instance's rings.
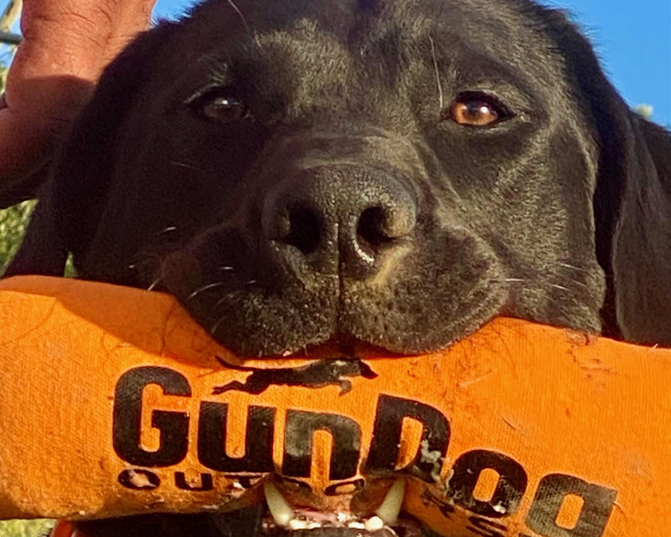
[[91,102],[74,121],[49,177],[23,244],[5,276],[62,276],[68,252],[95,234],[115,159],[115,139],[150,63],[166,46],[176,23],[162,22],[140,34],[103,72]]

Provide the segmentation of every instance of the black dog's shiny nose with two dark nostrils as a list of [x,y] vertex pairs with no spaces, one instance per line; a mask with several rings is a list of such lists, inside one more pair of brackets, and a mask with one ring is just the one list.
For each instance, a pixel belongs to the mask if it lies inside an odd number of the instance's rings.
[[417,202],[402,177],[358,166],[319,166],[272,189],[262,228],[280,253],[314,271],[364,279],[415,228]]

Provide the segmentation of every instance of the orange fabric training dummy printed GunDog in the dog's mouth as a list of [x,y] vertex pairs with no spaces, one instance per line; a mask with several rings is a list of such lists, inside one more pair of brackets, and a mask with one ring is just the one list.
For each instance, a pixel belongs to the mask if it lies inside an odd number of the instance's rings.
[[0,283],[0,326],[0,518],[237,508],[270,474],[370,514],[405,475],[444,536],[671,528],[671,350],[498,319],[424,356],[243,363],[167,295],[46,277]]

